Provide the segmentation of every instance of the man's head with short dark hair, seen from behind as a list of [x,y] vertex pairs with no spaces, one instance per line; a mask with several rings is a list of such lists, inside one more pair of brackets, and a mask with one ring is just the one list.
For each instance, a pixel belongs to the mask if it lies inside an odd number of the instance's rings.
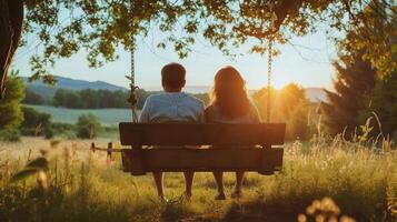
[[186,84],[186,70],[179,63],[169,63],[161,69],[161,83],[166,92],[180,92]]

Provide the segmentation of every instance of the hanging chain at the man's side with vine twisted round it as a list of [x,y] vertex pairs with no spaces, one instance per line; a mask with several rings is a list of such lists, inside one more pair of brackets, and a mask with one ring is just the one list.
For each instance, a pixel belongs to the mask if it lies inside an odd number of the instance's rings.
[[138,97],[137,90],[139,89],[135,84],[135,34],[133,34],[133,6],[132,0],[130,0],[130,34],[131,34],[131,74],[126,75],[126,78],[130,81],[130,97],[128,98],[128,102],[131,104],[132,111],[132,122],[138,122],[138,112],[137,112],[137,104],[138,104]]

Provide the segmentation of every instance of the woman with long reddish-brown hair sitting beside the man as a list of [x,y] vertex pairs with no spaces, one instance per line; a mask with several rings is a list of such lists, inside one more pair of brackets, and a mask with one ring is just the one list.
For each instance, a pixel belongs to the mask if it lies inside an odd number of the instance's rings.
[[[220,69],[215,75],[210,105],[206,109],[206,121],[212,123],[258,123],[260,118],[248,98],[246,83],[232,67]],[[216,200],[225,200],[224,172],[214,172],[218,186]],[[231,198],[241,196],[244,172],[236,172],[236,184]]]

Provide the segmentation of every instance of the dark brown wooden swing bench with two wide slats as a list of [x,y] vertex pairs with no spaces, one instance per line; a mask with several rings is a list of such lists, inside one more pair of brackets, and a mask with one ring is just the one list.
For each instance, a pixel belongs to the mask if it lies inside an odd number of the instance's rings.
[[284,123],[120,123],[121,144],[131,145],[121,150],[123,171],[272,174],[282,165],[285,130]]

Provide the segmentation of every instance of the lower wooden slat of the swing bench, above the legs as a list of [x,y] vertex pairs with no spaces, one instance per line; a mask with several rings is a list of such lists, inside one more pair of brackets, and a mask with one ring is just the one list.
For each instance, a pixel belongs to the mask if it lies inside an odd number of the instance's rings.
[[[272,173],[282,165],[284,149],[123,149],[126,172],[257,171]],[[265,163],[265,167],[264,167]]]

